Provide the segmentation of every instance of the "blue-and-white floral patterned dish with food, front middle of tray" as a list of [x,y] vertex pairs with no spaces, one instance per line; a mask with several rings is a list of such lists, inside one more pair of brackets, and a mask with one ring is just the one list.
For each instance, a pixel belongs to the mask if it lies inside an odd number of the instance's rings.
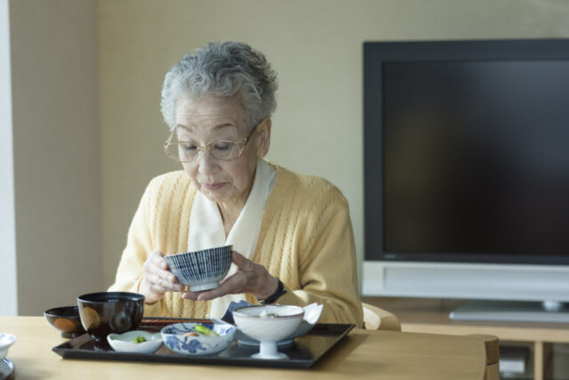
[[[202,325],[219,336],[185,336],[194,332],[196,325]],[[236,327],[229,324],[174,323],[160,331],[166,347],[182,355],[212,355],[222,352],[233,342]]]

